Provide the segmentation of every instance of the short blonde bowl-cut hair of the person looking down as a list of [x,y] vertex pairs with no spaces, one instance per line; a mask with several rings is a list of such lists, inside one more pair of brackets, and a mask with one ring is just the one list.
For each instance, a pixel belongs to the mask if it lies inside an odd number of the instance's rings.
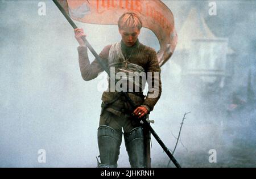
[[121,15],[118,20],[118,27],[122,29],[123,27],[138,27],[138,29],[142,28],[141,18],[134,12],[126,12]]

